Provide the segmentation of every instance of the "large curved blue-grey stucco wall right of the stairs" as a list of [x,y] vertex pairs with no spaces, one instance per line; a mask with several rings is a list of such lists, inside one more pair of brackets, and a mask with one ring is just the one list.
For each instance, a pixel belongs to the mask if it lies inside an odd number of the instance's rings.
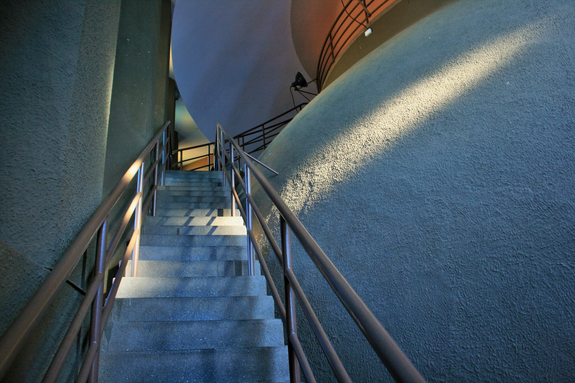
[[[260,155],[428,381],[575,376],[574,42],[573,1],[455,1],[356,63]],[[390,381],[296,245],[294,258],[352,380]]]

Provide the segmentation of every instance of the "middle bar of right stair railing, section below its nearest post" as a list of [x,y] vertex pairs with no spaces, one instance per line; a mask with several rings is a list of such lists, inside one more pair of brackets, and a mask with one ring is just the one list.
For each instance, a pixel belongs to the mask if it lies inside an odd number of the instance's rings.
[[316,334],[317,341],[320,343],[321,350],[324,352],[325,358],[327,359],[333,374],[335,374],[335,377],[340,383],[351,383],[350,376],[343,367],[342,361],[338,357],[338,353],[333,349],[331,341],[329,341],[327,334],[325,334],[323,326],[321,326],[319,319],[317,319],[316,313],[313,312],[312,305],[309,304],[308,298],[301,289],[300,283],[297,281],[293,271],[287,269],[283,274],[286,276],[287,280],[289,280],[294,293],[296,293],[296,298],[300,302],[301,308],[304,311],[306,318],[308,318],[309,324],[312,326],[313,333]]

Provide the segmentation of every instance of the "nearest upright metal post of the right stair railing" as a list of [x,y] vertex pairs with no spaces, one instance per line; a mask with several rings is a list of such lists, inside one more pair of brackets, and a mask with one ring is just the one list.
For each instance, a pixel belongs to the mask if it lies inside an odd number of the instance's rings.
[[297,336],[296,322],[296,296],[293,292],[289,280],[285,276],[287,270],[293,271],[292,265],[292,245],[290,244],[289,227],[283,216],[279,216],[282,236],[282,254],[283,254],[283,289],[285,292],[286,303],[286,332],[287,332],[287,358],[289,360],[289,381],[290,383],[300,383],[300,364],[296,357],[290,335]]

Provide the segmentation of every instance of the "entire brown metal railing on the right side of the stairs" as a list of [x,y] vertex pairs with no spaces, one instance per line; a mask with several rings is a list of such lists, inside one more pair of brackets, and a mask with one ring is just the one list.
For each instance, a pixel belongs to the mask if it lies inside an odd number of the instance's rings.
[[[229,144],[229,150],[225,149],[225,145],[227,143]],[[327,358],[336,378],[339,382],[351,382],[351,379],[344,369],[338,354],[333,349],[327,334],[323,330],[323,327],[321,327],[321,324],[317,319],[313,308],[311,307],[308,299],[304,294],[304,291],[301,288],[301,285],[298,283],[297,278],[293,273],[290,247],[291,231],[295,235],[296,239],[304,247],[316,267],[320,270],[321,274],[329,286],[332,288],[333,292],[335,292],[340,302],[346,308],[351,318],[354,319],[359,329],[363,332],[363,335],[369,342],[371,348],[375,351],[381,362],[384,363],[385,367],[388,369],[394,380],[397,382],[406,383],[424,383],[424,378],[417,371],[415,366],[413,366],[411,361],[409,361],[397,343],[393,341],[388,332],[385,331],[385,328],[381,326],[381,323],[379,323],[377,318],[375,318],[373,313],[369,310],[369,308],[367,308],[366,304],[363,303],[363,300],[358,296],[358,294],[346,281],[346,279],[335,267],[335,265],[333,265],[323,250],[321,250],[321,247],[317,245],[317,242],[312,238],[312,236],[308,233],[297,216],[293,213],[292,210],[290,210],[287,204],[279,196],[278,192],[275,191],[275,189],[271,186],[266,177],[263,176],[262,172],[260,172],[259,169],[255,167],[254,163],[252,163],[250,159],[250,156],[248,156],[247,153],[241,149],[241,145],[238,144],[234,138],[225,133],[224,129],[219,124],[216,128],[215,152],[217,156],[217,161],[215,161],[216,167],[219,171],[222,172],[223,185],[225,185],[226,181],[228,181],[231,188],[232,215],[235,214],[233,206],[235,206],[235,203],[237,203],[241,216],[244,220],[244,223],[246,224],[248,234],[247,241],[249,273],[250,275],[255,274],[254,263],[255,256],[257,256],[260,262],[261,270],[264,274],[264,277],[266,278],[267,285],[270,288],[271,295],[274,299],[275,305],[278,308],[279,316],[283,321],[287,333],[290,382],[300,382],[300,366],[308,383],[313,383],[316,381],[297,336],[297,322],[295,318],[296,299],[300,303],[306,318],[311,324],[313,332],[315,333],[320,343],[321,349],[323,350],[325,357]],[[237,152],[238,167],[235,165],[235,152]],[[242,163],[244,167],[243,179],[238,169]],[[256,181],[258,181],[263,191],[266,192],[267,196],[270,198],[271,202],[279,212],[281,247],[275,241],[269,226],[263,219],[262,213],[259,211],[257,204],[252,198],[251,175],[254,176]],[[243,208],[235,189],[236,181],[240,183],[246,194],[245,209]],[[279,297],[277,287],[275,287],[275,283],[271,277],[269,269],[267,268],[266,261],[263,258],[258,242],[256,242],[256,238],[252,230],[252,214],[255,214],[256,219],[258,219],[260,226],[262,226],[263,232],[275,253],[275,256],[278,258],[278,261],[282,265],[283,286],[285,291],[285,307],[283,306],[281,298]]]

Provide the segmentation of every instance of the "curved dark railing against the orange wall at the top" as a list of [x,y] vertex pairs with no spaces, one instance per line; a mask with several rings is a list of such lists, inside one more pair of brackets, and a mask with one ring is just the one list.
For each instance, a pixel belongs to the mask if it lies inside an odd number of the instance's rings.
[[333,64],[343,53],[352,38],[358,36],[358,29],[367,30],[375,20],[375,16],[384,10],[387,3],[396,0],[340,0],[343,9],[335,18],[324,44],[321,47],[317,61],[317,91],[323,88],[325,79]]

